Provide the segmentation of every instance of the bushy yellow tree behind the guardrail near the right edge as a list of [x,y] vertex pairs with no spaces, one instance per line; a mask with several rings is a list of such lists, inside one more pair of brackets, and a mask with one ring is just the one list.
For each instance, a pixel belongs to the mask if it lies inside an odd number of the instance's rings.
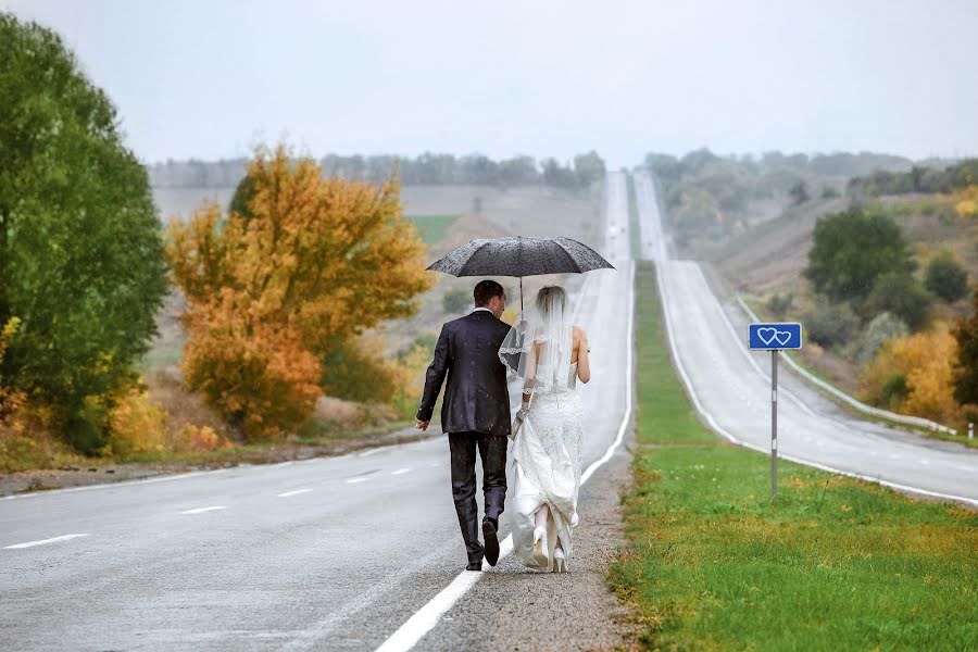
[[890,340],[863,372],[865,398],[889,402],[903,414],[954,422],[960,411],[952,385],[956,363],[957,340],[943,322],[928,333]]

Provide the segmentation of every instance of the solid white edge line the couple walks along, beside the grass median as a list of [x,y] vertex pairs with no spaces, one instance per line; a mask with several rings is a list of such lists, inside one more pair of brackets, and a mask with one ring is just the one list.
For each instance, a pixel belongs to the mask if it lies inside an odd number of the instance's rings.
[[[626,362],[625,362],[625,414],[622,417],[622,425],[618,427],[617,436],[615,437],[614,442],[607,448],[604,455],[601,456],[600,460],[592,463],[588,466],[587,471],[585,471],[580,476],[580,484],[584,485],[588,481],[588,479],[594,474],[594,472],[605,462],[611,460],[611,456],[614,454],[615,449],[622,443],[622,440],[625,436],[625,430],[628,428],[628,424],[631,421],[631,393],[632,393],[632,369],[631,369],[631,360],[632,360],[632,348],[635,347],[634,342],[634,326],[635,326],[635,264],[630,263],[629,267],[629,292],[628,292],[628,337],[625,340],[627,342],[626,350]],[[513,536],[507,535],[506,538],[502,541],[499,547],[499,557],[503,559],[513,552]],[[487,569],[488,562],[482,562],[482,569]],[[438,625],[438,622],[441,619],[441,616],[444,615],[448,610],[450,610],[454,604],[465,595],[468,590],[475,586],[475,584],[482,576],[481,573],[472,573],[468,570],[463,570],[460,573],[452,582],[442,589],[435,598],[432,598],[427,604],[425,604],[421,610],[418,610],[413,616],[411,616],[406,623],[401,625],[397,631],[390,635],[384,643],[377,648],[376,652],[403,652],[405,650],[412,649],[417,641],[422,639],[426,634],[428,634],[431,629]]]

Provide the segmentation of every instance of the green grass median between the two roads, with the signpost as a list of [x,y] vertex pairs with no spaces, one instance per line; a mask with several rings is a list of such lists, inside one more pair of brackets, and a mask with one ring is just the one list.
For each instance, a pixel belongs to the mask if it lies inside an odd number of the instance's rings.
[[668,358],[639,274],[638,447],[610,581],[649,649],[978,648],[978,515],[728,444]]

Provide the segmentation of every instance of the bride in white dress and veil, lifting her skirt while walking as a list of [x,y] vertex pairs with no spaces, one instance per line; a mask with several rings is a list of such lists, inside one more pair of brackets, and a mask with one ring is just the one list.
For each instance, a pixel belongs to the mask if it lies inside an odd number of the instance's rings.
[[513,425],[513,547],[530,568],[566,573],[577,525],[584,436],[577,379],[591,378],[587,334],[570,324],[567,293],[550,286],[516,322],[499,358],[523,380]]

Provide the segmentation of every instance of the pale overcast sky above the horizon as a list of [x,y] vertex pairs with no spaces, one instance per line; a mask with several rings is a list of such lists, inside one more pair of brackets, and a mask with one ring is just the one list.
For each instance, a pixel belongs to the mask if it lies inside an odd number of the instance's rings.
[[978,0],[0,0],[145,162],[425,151],[978,154]]

